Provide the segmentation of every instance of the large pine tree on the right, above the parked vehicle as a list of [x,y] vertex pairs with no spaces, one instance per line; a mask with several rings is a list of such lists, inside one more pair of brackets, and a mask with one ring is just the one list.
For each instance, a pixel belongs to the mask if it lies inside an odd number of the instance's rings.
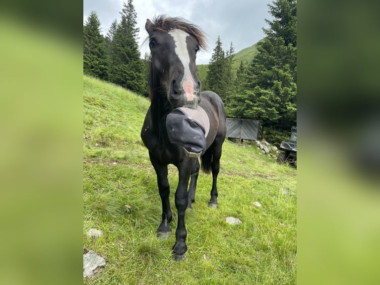
[[297,7],[296,0],[269,4],[274,20],[266,22],[266,37],[247,72],[244,115],[260,120],[266,139],[279,142],[297,122]]

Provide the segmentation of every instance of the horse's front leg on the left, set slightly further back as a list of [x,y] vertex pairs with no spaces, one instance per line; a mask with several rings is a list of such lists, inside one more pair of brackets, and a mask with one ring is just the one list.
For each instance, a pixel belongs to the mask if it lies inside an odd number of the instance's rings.
[[157,174],[158,191],[162,203],[162,220],[157,230],[157,237],[167,238],[172,231],[169,225],[172,220],[172,211],[170,210],[169,202],[170,186],[168,181],[168,166],[159,163],[154,157],[151,157],[150,160]]

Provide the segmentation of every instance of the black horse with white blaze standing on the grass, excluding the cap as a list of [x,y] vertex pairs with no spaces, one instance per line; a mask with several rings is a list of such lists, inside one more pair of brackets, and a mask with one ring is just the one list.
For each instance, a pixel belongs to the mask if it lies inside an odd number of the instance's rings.
[[[151,51],[149,71],[151,103],[141,130],[141,139],[149,150],[162,201],[163,213],[158,227],[158,237],[168,237],[171,232],[169,224],[172,220],[172,212],[169,203],[168,164],[174,164],[178,168],[179,182],[175,193],[178,224],[173,257],[181,261],[185,260],[187,252],[185,212],[187,208],[191,209],[191,203],[194,202],[199,171],[198,155],[201,155],[202,170],[205,173],[212,171],[209,206],[218,207],[216,181],[222,144],[226,136],[226,112],[222,100],[216,93],[200,91],[195,58],[198,50],[205,48],[203,32],[182,18],[171,18],[165,15],[154,18],[153,22],[147,19],[145,29],[149,34]],[[208,133],[205,132],[204,135],[206,150],[198,155],[189,152],[189,149],[187,150],[179,143],[171,143],[168,137],[166,118],[169,113],[180,107],[186,107],[187,110],[195,112],[204,110],[207,115],[205,117],[208,121]]]

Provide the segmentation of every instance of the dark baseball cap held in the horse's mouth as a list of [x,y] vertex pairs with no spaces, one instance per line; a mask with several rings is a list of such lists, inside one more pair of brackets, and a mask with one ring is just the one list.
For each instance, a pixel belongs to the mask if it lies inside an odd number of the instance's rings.
[[171,143],[179,143],[190,157],[198,157],[206,150],[205,130],[182,108],[166,116],[166,130]]

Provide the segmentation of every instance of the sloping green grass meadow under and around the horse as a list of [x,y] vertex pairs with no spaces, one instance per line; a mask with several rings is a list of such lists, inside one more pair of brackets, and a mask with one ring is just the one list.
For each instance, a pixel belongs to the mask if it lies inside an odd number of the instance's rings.
[[[253,144],[226,140],[219,208],[207,206],[212,177],[200,173],[186,213],[187,258],[175,262],[177,169],[169,165],[173,232],[157,239],[161,201],[139,136],[149,101],[87,76],[83,97],[83,246],[106,259],[84,284],[296,284],[294,168],[260,155]],[[228,216],[242,224],[229,225]],[[90,228],[104,235],[89,238]]]

